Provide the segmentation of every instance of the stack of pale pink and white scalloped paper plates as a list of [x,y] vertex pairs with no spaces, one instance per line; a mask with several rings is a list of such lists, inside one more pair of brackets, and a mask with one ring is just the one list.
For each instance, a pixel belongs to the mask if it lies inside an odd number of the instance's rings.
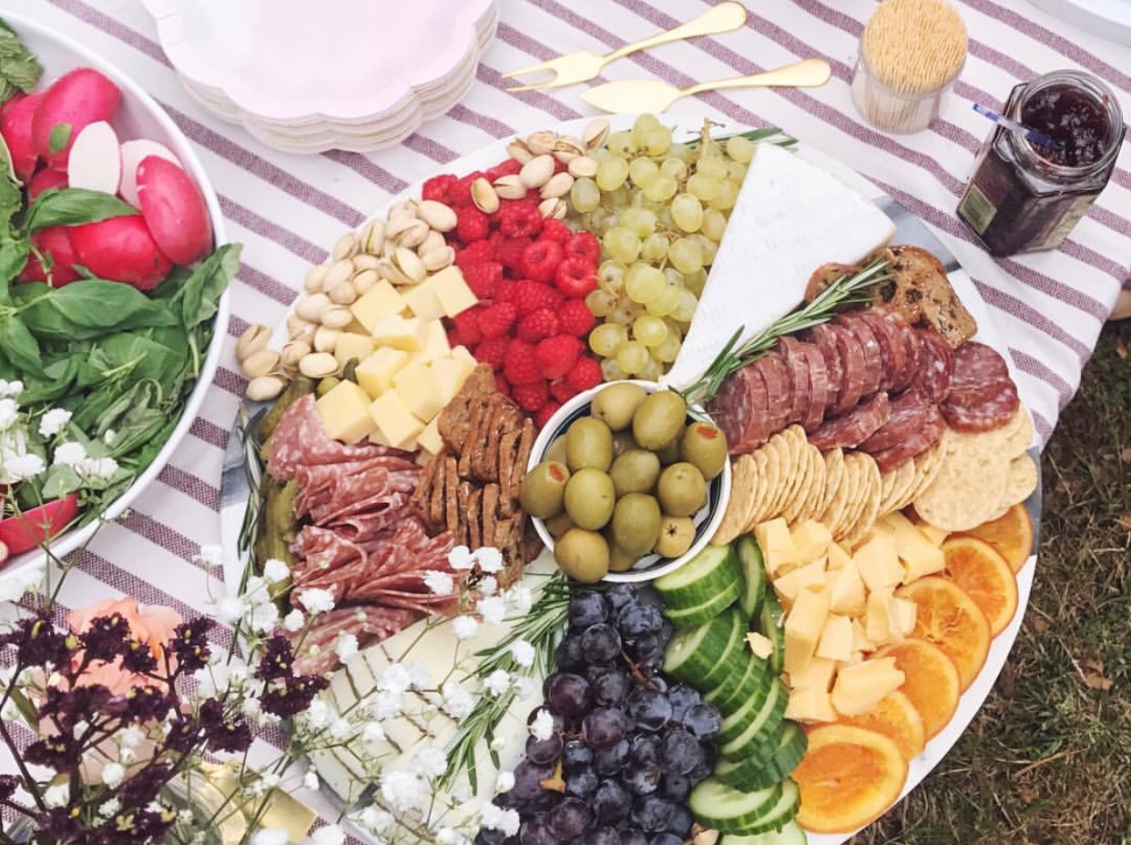
[[451,108],[499,0],[144,0],[205,107],[288,153],[389,147]]

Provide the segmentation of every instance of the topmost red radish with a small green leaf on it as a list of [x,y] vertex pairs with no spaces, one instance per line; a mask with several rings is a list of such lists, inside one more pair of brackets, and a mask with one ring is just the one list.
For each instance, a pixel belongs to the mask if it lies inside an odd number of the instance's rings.
[[118,86],[94,68],[77,68],[59,77],[35,110],[32,137],[36,151],[52,167],[66,167],[79,132],[113,117],[121,99]]

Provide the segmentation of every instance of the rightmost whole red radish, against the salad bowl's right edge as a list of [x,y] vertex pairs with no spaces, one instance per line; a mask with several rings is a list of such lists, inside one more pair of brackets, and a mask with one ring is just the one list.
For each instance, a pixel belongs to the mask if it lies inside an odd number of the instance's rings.
[[161,250],[178,264],[191,264],[211,250],[211,220],[204,194],[183,167],[158,156],[138,165],[141,216]]

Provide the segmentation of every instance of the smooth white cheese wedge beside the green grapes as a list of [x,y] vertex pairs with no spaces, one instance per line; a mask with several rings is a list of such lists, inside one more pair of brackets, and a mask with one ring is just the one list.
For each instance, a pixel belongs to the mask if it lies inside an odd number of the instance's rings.
[[895,230],[887,215],[828,171],[759,145],[664,382],[690,386],[740,326],[750,338],[791,312],[819,265],[860,261]]

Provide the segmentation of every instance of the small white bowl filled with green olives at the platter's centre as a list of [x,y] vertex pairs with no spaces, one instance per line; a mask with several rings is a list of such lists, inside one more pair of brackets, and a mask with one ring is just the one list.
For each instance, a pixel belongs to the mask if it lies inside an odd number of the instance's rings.
[[571,577],[640,582],[694,557],[731,495],[726,437],[656,382],[578,393],[546,422],[520,499]]

